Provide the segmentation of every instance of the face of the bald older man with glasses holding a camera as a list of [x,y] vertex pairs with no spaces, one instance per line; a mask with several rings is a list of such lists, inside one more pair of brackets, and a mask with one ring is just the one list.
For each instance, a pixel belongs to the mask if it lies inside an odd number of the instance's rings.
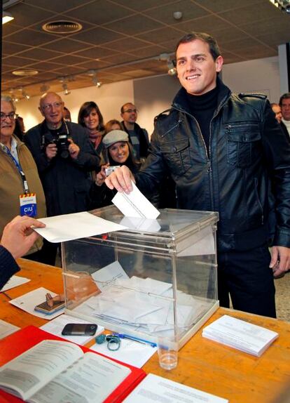
[[57,93],[47,93],[40,100],[39,110],[46,119],[46,123],[58,126],[64,114],[64,103]]

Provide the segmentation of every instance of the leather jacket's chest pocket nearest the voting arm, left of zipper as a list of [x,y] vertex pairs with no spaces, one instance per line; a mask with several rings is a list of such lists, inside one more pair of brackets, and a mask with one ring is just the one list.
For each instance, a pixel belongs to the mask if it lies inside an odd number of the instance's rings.
[[160,145],[165,162],[174,175],[181,176],[191,167],[188,138]]

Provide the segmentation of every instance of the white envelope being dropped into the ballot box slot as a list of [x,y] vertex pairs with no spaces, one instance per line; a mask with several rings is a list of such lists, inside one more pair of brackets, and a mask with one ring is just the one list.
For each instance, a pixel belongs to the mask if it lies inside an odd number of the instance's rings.
[[112,202],[124,216],[139,218],[157,218],[160,212],[140,192],[132,182],[133,190],[129,194],[118,192]]

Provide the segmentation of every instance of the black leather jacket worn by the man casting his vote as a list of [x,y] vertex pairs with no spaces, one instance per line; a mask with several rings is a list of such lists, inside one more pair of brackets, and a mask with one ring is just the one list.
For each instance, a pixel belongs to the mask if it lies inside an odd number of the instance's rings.
[[177,184],[179,209],[218,211],[220,251],[268,242],[271,209],[273,244],[290,247],[289,142],[265,95],[236,95],[218,85],[209,152],[181,88],[170,113],[158,117],[137,185],[146,192],[167,171]]

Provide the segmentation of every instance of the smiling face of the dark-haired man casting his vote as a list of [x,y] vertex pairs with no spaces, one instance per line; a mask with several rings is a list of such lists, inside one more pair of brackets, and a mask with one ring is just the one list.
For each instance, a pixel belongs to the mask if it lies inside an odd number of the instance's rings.
[[221,71],[223,58],[214,61],[209,45],[195,39],[177,48],[177,76],[181,86],[191,95],[202,95],[216,87],[216,73]]

